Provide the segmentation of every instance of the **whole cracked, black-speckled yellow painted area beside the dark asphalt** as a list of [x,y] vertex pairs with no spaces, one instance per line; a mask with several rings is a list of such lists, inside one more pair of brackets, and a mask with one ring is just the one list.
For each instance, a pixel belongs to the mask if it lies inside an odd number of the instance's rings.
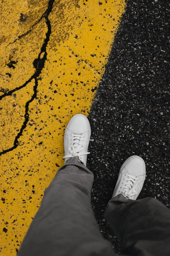
[[125,0],[54,1],[48,15],[51,34],[44,68],[16,91],[35,74],[38,54],[40,59],[45,54],[41,46],[48,27],[42,14],[48,1],[21,0],[14,5],[10,0],[3,5],[0,95],[14,92],[0,101],[0,152],[15,144],[38,79],[18,146],[0,156],[0,253],[6,256],[16,254],[45,188],[64,163],[64,129],[69,119],[90,111]]

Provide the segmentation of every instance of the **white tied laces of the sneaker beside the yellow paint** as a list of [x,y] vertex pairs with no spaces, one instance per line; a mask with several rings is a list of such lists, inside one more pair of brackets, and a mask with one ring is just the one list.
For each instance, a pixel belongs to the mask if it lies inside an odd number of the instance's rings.
[[83,141],[82,138],[84,138],[83,135],[72,134],[71,137],[73,137],[73,139],[71,139],[71,141],[73,142],[71,146],[68,148],[70,151],[70,155],[64,156],[63,159],[76,156],[79,158],[79,156],[90,154],[90,152],[80,152],[84,149],[84,146],[81,144],[81,141]]

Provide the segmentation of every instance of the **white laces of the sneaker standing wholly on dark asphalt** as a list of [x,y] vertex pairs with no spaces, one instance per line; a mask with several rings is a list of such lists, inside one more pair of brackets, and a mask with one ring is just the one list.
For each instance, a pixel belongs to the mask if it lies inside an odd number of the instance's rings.
[[134,185],[136,184],[135,180],[138,181],[138,179],[136,178],[136,176],[130,174],[125,174],[125,176],[127,178],[124,179],[125,182],[122,183],[124,184],[124,186],[120,187],[123,188],[123,190],[119,191],[119,193],[122,193],[124,197],[129,198],[129,196],[134,196],[138,194],[137,189],[134,188]]

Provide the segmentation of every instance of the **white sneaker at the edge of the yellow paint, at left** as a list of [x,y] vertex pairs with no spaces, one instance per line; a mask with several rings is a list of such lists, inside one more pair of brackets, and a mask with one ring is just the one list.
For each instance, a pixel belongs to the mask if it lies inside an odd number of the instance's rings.
[[90,154],[90,152],[87,152],[90,136],[91,128],[87,117],[82,114],[74,115],[65,129],[64,163],[70,157],[78,157],[78,161],[84,163],[86,166],[87,155]]

